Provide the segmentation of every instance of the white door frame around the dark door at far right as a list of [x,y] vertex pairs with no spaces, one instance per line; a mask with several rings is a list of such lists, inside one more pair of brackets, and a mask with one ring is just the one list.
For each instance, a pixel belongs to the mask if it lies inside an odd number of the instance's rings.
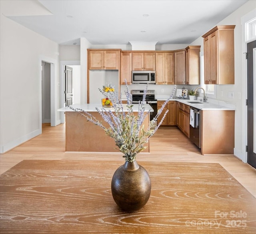
[[241,18],[242,24],[242,152],[237,152],[240,154],[239,157],[244,163],[247,163],[247,152],[246,152],[246,145],[247,145],[247,106],[246,106],[246,99],[247,99],[247,61],[246,61],[246,52],[247,52],[247,43],[255,40],[248,40],[246,41],[246,23],[253,18],[255,18],[256,9],[252,10],[245,16]]

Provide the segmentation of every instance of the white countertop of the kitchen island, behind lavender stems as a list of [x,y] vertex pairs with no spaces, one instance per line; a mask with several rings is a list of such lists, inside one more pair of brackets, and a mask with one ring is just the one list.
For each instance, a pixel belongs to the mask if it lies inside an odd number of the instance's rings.
[[[99,109],[102,109],[102,105],[99,104],[99,103],[93,103],[93,104],[74,104],[74,105],[71,105],[73,108],[79,108],[79,109],[82,109],[84,111],[87,111],[87,112],[97,112],[97,110],[95,109],[96,107],[98,107]],[[127,111],[127,107],[126,107],[126,104],[123,104],[123,107],[124,107],[124,111]],[[111,110],[112,112],[115,111],[115,109],[113,107],[104,107],[105,110]],[[134,112],[138,112],[138,104],[133,104],[133,111]],[[103,109],[102,109],[103,110]],[[72,112],[74,110],[70,109],[68,106],[66,107],[63,107],[63,108],[60,108],[58,109],[58,111],[61,111],[61,112]],[[103,110],[104,111],[104,110]],[[149,104],[145,104],[145,112],[154,112],[153,108],[149,105]]]

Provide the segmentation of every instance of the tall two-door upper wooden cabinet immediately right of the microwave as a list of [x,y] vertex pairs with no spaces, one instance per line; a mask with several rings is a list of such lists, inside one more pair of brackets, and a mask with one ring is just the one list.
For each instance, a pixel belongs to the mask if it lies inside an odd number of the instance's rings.
[[156,52],[156,84],[174,84],[173,52]]

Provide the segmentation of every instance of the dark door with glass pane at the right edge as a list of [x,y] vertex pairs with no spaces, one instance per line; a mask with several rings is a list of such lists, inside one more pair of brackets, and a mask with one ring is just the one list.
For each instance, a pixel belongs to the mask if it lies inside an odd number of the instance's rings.
[[247,162],[256,168],[256,40],[247,44]]

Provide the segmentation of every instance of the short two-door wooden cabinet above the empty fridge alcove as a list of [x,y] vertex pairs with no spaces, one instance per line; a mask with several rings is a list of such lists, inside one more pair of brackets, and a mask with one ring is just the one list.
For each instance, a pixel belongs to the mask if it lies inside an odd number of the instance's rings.
[[89,70],[119,70],[120,50],[88,50]]

